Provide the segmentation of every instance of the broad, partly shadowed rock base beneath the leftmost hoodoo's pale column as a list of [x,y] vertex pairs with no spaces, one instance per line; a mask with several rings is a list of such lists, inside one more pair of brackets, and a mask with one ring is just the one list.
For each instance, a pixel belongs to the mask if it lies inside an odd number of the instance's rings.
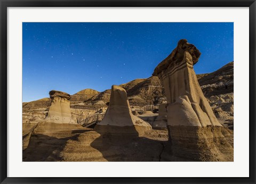
[[77,140],[81,133],[91,129],[78,124],[39,122],[31,130],[28,146],[22,153],[25,162],[62,161],[61,151],[67,141]]

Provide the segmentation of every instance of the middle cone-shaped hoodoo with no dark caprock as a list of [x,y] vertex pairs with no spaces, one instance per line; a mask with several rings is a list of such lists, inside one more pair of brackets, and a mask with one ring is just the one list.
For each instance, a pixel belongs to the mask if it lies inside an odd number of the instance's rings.
[[143,135],[151,130],[151,126],[132,114],[124,88],[113,85],[106,114],[94,130],[109,138],[115,136],[115,139],[122,143],[126,138]]

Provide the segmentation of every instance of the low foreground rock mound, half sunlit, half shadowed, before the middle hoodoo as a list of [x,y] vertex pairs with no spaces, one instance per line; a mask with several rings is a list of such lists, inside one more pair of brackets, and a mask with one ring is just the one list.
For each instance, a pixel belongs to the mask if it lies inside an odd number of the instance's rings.
[[[125,135],[127,137],[127,135]],[[61,152],[68,162],[158,162],[165,144],[169,143],[166,130],[151,130],[143,137],[129,139],[124,144],[112,144],[108,137],[95,131],[86,131],[69,140]]]

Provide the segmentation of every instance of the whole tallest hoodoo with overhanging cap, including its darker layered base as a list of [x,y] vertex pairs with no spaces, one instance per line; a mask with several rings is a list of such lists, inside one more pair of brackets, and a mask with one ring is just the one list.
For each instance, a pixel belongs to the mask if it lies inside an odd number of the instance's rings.
[[167,98],[172,154],[194,161],[233,161],[233,147],[199,86],[193,65],[201,53],[186,39],[157,65]]

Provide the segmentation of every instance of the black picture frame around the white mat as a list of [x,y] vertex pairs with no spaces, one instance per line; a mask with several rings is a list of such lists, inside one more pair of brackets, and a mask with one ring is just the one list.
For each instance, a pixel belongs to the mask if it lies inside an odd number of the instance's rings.
[[[7,7],[249,7],[250,177],[248,178],[11,178],[7,177]],[[0,0],[1,10],[1,183],[255,183],[255,0]],[[241,168],[243,169],[243,168]],[[117,176],[118,177],[118,176]]]

